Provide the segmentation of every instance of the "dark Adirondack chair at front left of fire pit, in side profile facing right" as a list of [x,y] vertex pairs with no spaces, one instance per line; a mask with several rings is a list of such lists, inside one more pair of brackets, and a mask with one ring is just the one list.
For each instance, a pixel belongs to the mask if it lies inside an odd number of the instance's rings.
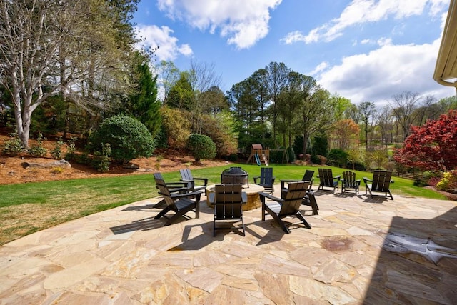
[[201,196],[200,191],[185,192],[183,194],[179,194],[178,192],[172,194],[169,187],[166,186],[165,181],[159,178],[156,178],[156,186],[159,189],[159,194],[164,196],[166,207],[159,214],[157,214],[154,219],[159,219],[161,216],[166,217],[165,214],[169,211],[174,211],[175,214],[166,221],[164,226],[174,224],[174,222],[176,222],[181,217],[186,217],[189,219],[189,217],[186,216],[188,211],[195,211],[195,218],[199,218]]

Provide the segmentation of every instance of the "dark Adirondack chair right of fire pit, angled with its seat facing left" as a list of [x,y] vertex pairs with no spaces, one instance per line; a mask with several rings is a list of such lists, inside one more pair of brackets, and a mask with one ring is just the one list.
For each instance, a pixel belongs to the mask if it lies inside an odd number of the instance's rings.
[[[288,184],[287,191],[284,193],[283,198],[278,198],[266,193],[258,193],[262,201],[262,220],[265,221],[265,215],[270,214],[274,220],[281,226],[284,232],[290,234],[291,231],[282,220],[287,216],[296,216],[300,222],[296,224],[303,224],[306,228],[311,229],[305,217],[300,213],[301,202],[308,189],[306,182],[292,182]],[[271,201],[266,201],[270,199]]]

